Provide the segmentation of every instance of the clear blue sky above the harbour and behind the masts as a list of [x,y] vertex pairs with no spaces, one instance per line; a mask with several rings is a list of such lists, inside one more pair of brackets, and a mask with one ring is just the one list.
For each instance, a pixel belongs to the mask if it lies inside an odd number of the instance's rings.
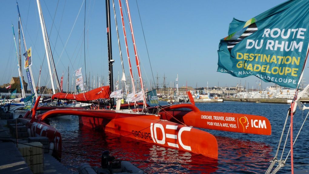
[[[40,86],[48,84],[50,87],[50,77],[36,1],[19,0],[17,2],[19,3],[26,45],[27,48],[32,47],[34,80],[37,83],[40,66],[42,65]],[[80,67],[82,67],[83,75],[87,73],[87,77],[89,77],[89,73],[91,77],[95,76],[95,80],[97,75],[99,77],[104,76],[105,84],[108,78],[105,1],[87,0],[86,2],[85,47],[87,72],[85,72],[83,41],[84,1],[40,1],[59,80],[62,73],[64,73],[64,89],[67,86],[68,67],[70,67],[70,86],[74,70]],[[256,81],[260,80],[257,77],[238,78],[226,73],[216,72],[218,67],[218,44],[220,39],[227,36],[228,26],[233,18],[247,21],[282,2],[284,0],[130,0],[129,6],[133,30],[142,63],[144,81],[147,84],[154,81],[150,69],[151,63],[155,82],[158,73],[161,85],[163,75],[166,77],[166,85],[169,86],[171,83],[174,85],[178,74],[179,86],[186,86],[187,83],[188,86],[192,87],[196,87],[196,85],[197,87],[205,87],[208,81],[209,86],[217,86],[218,84],[219,86],[236,86],[240,82],[244,86],[246,82],[247,88],[248,85],[250,89],[252,86],[256,88]],[[122,6],[123,9],[126,9],[123,0]],[[115,2],[115,8],[125,73],[128,76],[129,66],[118,1]],[[15,35],[18,37],[18,13],[14,0],[2,0],[0,10],[0,48],[2,49],[0,63],[2,77],[0,77],[0,84],[2,85],[8,83],[12,76],[18,76],[12,33],[13,24]],[[113,11],[111,16],[112,56],[115,60],[113,68],[114,78],[117,79],[118,72],[121,75],[122,70]],[[133,74],[137,76],[127,15],[125,15],[124,20]],[[145,45],[147,45],[148,53]],[[25,76],[25,72],[23,73]],[[306,78],[306,75],[304,77]],[[28,83],[27,80],[25,81]],[[263,88],[270,85],[274,84],[263,82]]]

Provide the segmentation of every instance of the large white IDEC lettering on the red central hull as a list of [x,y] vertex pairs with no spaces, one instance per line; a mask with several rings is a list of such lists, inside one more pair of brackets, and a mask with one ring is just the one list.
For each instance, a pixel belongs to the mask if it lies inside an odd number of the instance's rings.
[[[175,125],[166,125],[165,129],[177,130],[177,127],[178,127],[178,126],[175,126]],[[180,145],[182,148],[184,148],[185,150],[191,151],[191,147],[190,147],[190,146],[184,145],[184,143],[182,143],[182,140],[181,140],[181,134],[182,134],[184,131],[190,131],[191,128],[192,128],[192,127],[182,127],[182,128],[179,129],[177,135],[174,135],[174,134],[165,134],[164,126],[163,126],[162,124],[159,124],[159,123],[151,123],[151,124],[150,124],[150,133],[151,133],[152,140],[153,140],[155,143],[158,143],[158,144],[165,144],[165,142],[167,142],[167,145],[168,145],[168,146],[179,148],[178,144],[168,142],[168,139],[176,139],[176,140],[178,140],[179,145]],[[161,132],[162,132],[162,135],[163,135],[163,136],[161,137],[161,139],[158,139],[157,129],[160,129]]]

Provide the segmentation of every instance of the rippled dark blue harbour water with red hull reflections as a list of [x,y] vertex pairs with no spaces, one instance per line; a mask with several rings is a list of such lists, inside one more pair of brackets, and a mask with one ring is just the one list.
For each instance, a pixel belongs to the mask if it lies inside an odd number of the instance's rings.
[[[213,160],[203,155],[78,126],[77,116],[73,116],[72,120],[55,118],[50,120],[50,124],[61,132],[63,146],[61,163],[74,173],[78,173],[77,167],[81,163],[87,162],[93,166],[100,166],[100,156],[104,150],[111,151],[116,159],[129,160],[146,173],[265,173],[270,164],[269,161],[273,159],[277,150],[289,104],[223,102],[196,103],[196,106],[205,111],[265,116],[272,125],[272,135],[251,135],[203,129],[213,134],[218,141],[218,160]],[[306,115],[307,112],[296,110],[294,137]],[[304,125],[294,145],[295,170],[307,168],[303,164],[309,164],[308,126]],[[286,164],[287,166],[279,173],[290,170],[290,158]]]

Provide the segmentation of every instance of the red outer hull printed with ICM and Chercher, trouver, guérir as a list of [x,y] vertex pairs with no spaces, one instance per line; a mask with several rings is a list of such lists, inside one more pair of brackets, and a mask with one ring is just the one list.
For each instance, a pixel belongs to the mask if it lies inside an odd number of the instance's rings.
[[[190,109],[180,110],[183,108]],[[156,107],[148,108],[150,111]],[[191,104],[162,106],[159,112],[161,119],[183,123],[204,129],[239,132],[247,134],[271,135],[271,125],[267,118],[250,114],[200,111]]]

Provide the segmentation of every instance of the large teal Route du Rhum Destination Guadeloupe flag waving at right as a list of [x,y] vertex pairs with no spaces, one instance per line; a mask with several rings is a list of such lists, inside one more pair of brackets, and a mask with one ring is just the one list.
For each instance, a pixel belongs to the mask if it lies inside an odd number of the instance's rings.
[[308,30],[307,0],[284,2],[247,22],[233,19],[228,36],[220,40],[217,71],[297,88],[307,60]]

